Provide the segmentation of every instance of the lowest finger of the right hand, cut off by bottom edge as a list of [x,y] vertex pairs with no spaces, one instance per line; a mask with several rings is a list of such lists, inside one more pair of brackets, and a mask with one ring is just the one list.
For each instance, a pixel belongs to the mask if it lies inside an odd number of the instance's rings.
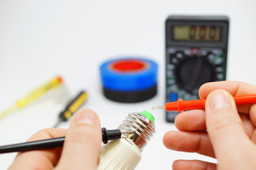
[[173,170],[216,170],[216,164],[199,160],[177,160],[172,164]]

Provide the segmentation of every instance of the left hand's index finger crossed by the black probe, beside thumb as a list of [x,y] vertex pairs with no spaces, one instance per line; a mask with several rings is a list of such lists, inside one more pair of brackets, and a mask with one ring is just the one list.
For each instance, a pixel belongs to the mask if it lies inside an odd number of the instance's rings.
[[[64,129],[40,130],[30,137],[28,142],[62,137],[66,135],[66,132],[67,130]],[[19,152],[9,169],[53,169],[60,158],[60,152],[60,148]]]

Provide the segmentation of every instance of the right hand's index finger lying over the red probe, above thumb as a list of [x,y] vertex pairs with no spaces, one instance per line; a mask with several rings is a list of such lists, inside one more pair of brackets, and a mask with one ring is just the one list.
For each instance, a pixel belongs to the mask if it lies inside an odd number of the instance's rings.
[[[223,89],[228,91],[232,96],[256,94],[256,86],[240,81],[216,81],[203,84],[199,89],[200,98],[206,98],[211,91]],[[240,113],[249,113],[252,105],[237,106]]]

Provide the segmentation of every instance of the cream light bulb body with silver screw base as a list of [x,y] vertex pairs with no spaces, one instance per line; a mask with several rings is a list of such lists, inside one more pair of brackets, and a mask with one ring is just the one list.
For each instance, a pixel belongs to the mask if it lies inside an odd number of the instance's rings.
[[120,139],[101,147],[97,170],[135,169],[140,162],[143,147],[155,132],[155,125],[142,113],[134,112],[128,114],[118,129],[132,133],[124,133]]

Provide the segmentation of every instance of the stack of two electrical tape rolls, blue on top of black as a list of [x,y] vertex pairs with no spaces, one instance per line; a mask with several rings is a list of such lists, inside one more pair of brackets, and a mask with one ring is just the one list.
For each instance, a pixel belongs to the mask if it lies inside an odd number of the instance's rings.
[[112,101],[137,103],[157,94],[157,63],[143,57],[120,56],[101,64],[103,94]]

